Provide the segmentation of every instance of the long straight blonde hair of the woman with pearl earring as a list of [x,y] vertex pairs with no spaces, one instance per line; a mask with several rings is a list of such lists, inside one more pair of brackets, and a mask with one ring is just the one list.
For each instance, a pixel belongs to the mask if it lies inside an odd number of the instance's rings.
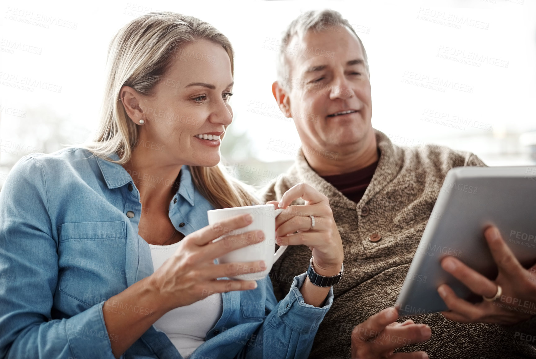
[[[193,16],[174,12],[151,12],[132,20],[114,36],[108,49],[108,80],[99,129],[92,141],[77,147],[110,162],[129,162],[138,143],[138,125],[130,120],[120,99],[120,90],[130,86],[146,96],[172,65],[181,47],[197,40],[221,45],[234,75],[234,51],[229,39],[214,26]],[[118,160],[108,158],[113,153]],[[189,166],[198,191],[214,208],[251,206],[258,200],[221,164]]]

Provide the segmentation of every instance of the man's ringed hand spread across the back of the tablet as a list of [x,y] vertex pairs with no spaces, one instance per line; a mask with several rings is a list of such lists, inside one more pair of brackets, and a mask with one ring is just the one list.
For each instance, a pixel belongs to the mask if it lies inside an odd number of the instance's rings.
[[512,325],[531,318],[536,314],[536,265],[523,268],[497,228],[488,227],[484,235],[498,267],[495,281],[452,256],[443,258],[441,267],[488,300],[472,304],[459,298],[449,285],[442,284],[437,291],[450,311],[441,313],[445,318],[461,323]]

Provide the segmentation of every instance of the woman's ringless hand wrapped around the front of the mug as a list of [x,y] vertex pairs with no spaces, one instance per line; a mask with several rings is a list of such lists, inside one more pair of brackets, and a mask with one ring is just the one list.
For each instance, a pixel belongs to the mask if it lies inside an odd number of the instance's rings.
[[230,251],[264,240],[262,231],[251,231],[214,241],[251,222],[251,215],[234,216],[184,237],[172,257],[151,275],[150,283],[160,296],[160,304],[172,310],[200,301],[213,293],[257,288],[257,283],[252,280],[216,279],[262,272],[266,269],[263,260],[218,265],[213,262]]

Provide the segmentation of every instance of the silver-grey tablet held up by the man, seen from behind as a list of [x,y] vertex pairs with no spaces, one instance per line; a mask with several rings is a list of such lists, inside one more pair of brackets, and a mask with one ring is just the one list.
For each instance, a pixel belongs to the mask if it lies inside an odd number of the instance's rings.
[[452,255],[490,280],[498,274],[483,231],[495,225],[520,263],[536,262],[536,166],[456,167],[446,175],[397,299],[400,316],[449,310],[437,292],[482,301],[441,268]]

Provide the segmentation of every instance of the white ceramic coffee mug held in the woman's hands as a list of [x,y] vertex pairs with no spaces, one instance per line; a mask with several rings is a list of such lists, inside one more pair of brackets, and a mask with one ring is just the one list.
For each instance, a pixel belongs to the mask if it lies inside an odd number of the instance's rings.
[[[281,213],[282,210],[282,208],[276,209],[273,204],[260,204],[259,206],[222,208],[207,211],[210,225],[221,222],[226,218],[244,215],[247,213],[249,213],[253,219],[253,222],[251,222],[250,225],[238,230],[229,231],[228,235],[221,236],[220,238],[215,239],[215,241],[229,235],[238,236],[240,238],[243,233],[249,231],[261,230],[264,232],[265,238],[262,242],[231,251],[217,258],[217,260],[220,264],[264,260],[266,263],[266,269],[263,270],[263,272],[240,274],[230,276],[230,278],[258,281],[270,273],[273,263],[277,261],[279,257],[281,257],[281,254],[283,254],[287,248],[287,246],[281,246],[277,252],[274,253],[276,250],[276,217]],[[244,235],[244,240],[245,238],[246,237]],[[251,270],[254,269],[251,268]]]

